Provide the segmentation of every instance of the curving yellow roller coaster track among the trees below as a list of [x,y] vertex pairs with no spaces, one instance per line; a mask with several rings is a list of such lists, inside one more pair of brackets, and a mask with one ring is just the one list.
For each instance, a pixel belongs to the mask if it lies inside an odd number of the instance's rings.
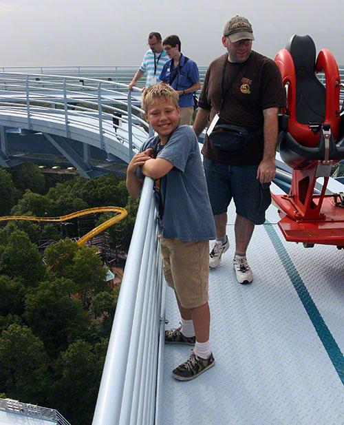
[[103,222],[101,225],[94,227],[91,231],[89,231],[87,234],[85,234],[82,238],[80,238],[77,241],[78,247],[83,245],[87,240],[93,238],[94,236],[100,234],[102,231],[107,229],[107,227],[110,227],[114,225],[116,222],[122,220],[123,218],[127,217],[128,213],[127,210],[120,207],[96,207],[96,208],[87,208],[87,209],[81,209],[80,211],[76,211],[72,214],[67,214],[66,216],[61,217],[30,217],[30,216],[3,216],[0,217],[1,221],[8,221],[8,220],[29,220],[29,221],[47,221],[47,222],[63,222],[66,220],[71,220],[72,218],[80,217],[80,216],[87,216],[87,214],[93,214],[96,212],[117,212],[116,216],[110,218],[109,220]]

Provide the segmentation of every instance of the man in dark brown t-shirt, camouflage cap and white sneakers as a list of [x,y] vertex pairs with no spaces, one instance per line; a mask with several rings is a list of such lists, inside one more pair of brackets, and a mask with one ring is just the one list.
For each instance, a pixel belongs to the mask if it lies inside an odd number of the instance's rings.
[[286,105],[281,74],[271,59],[252,51],[252,26],[236,16],[224,28],[227,53],[211,63],[204,79],[193,125],[197,136],[211,124],[244,127],[251,136],[239,152],[214,147],[206,135],[202,154],[216,226],[210,267],[217,267],[229,247],[227,208],[235,202],[235,257],[239,283],[253,280],[246,250],[255,225],[265,221],[270,205],[270,182],[275,178],[275,150],[279,108]]

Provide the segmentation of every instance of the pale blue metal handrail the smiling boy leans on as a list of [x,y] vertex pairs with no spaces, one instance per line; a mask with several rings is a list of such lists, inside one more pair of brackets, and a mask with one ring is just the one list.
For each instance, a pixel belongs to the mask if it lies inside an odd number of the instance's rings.
[[158,423],[164,326],[159,251],[153,180],[145,178],[92,425]]

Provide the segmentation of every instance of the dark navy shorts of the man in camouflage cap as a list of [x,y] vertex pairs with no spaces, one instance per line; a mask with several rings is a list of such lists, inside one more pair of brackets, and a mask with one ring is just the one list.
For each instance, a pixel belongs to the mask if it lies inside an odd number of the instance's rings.
[[270,183],[261,185],[257,165],[226,165],[204,158],[204,173],[214,216],[227,212],[234,200],[236,213],[255,225],[265,222],[271,203]]

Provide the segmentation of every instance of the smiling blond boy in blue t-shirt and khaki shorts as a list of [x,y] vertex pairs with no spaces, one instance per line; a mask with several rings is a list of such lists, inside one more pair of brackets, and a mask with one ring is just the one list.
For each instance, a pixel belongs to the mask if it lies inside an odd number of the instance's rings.
[[189,360],[172,373],[187,381],[215,364],[208,306],[208,241],[215,238],[215,224],[197,137],[191,127],[178,127],[177,92],[164,83],[148,87],[142,92],[142,109],[158,136],[133,156],[127,189],[138,198],[144,176],[155,179],[164,277],[182,317],[179,328],[165,332],[165,342],[195,345]]

